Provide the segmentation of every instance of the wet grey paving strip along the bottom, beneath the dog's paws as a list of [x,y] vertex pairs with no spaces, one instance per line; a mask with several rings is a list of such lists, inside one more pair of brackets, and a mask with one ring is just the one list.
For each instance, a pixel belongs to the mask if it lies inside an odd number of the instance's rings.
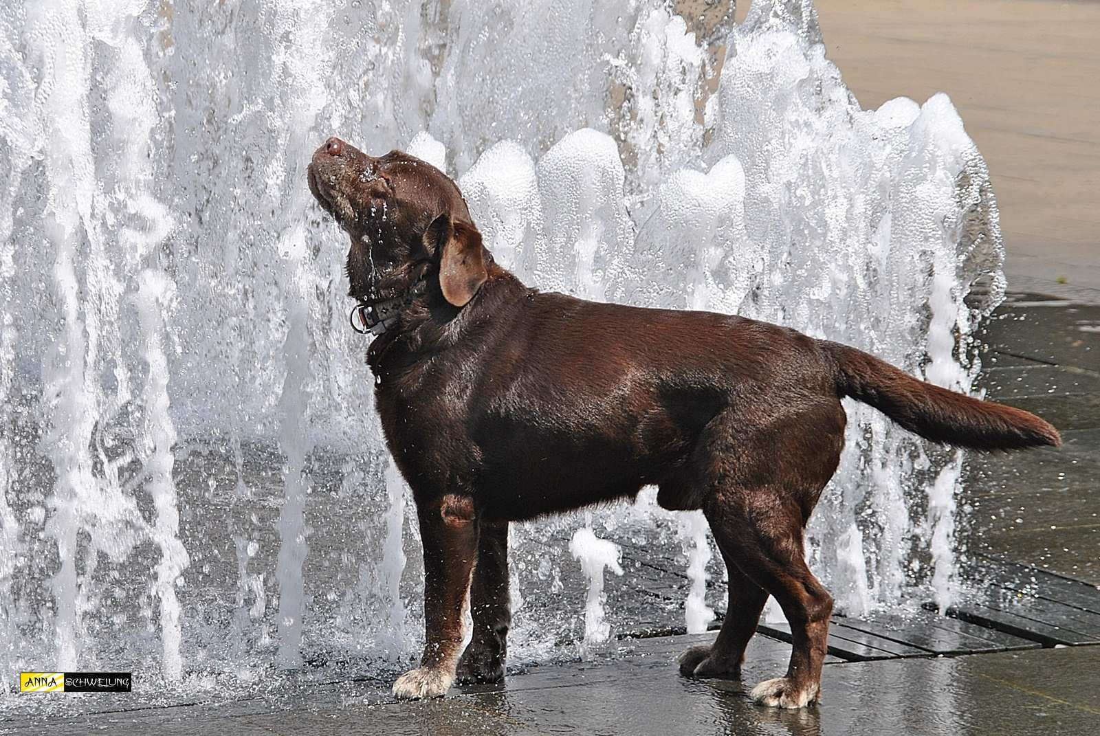
[[[595,664],[547,666],[504,686],[453,690],[446,699],[396,703],[371,682],[218,704],[98,713],[48,723],[9,722],[3,734],[112,736],[1035,736],[1100,734],[1100,647],[1033,649],[935,659],[827,664],[824,702],[800,711],[761,707],[728,681],[681,678],[686,646],[713,635],[645,639]],[[757,637],[746,677],[785,667],[787,645]]]

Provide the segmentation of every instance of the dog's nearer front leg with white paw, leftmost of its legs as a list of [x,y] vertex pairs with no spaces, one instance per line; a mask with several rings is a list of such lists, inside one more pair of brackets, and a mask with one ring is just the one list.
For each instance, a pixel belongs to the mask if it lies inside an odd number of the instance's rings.
[[438,697],[454,682],[462,646],[463,608],[477,556],[473,498],[448,493],[417,504],[424,541],[424,617],[426,642],[420,667],[394,683],[405,700]]

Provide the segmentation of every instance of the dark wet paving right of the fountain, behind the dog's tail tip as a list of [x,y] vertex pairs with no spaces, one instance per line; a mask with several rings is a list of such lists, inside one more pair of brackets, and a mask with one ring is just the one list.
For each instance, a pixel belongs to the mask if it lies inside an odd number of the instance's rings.
[[969,458],[971,549],[1100,585],[1100,306],[1014,295],[981,340],[978,387],[1064,447]]

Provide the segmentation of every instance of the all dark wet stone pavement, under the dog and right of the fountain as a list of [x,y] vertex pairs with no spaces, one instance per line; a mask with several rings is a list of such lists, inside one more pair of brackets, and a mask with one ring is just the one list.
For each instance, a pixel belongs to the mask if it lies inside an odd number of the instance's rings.
[[[741,683],[680,677],[679,653],[714,633],[674,635],[683,565],[642,542],[624,547],[630,580],[608,580],[608,615],[646,636],[594,662],[514,662],[504,685],[418,703],[354,677],[170,707],[89,701],[0,734],[1100,734],[1100,305],[1012,295],[980,339],[979,387],[1050,420],[1065,447],[968,457],[960,541],[977,593],[946,616],[834,617],[821,705],[766,708]],[[715,582],[708,602],[724,596]],[[745,682],[782,673],[789,639],[762,624]]]

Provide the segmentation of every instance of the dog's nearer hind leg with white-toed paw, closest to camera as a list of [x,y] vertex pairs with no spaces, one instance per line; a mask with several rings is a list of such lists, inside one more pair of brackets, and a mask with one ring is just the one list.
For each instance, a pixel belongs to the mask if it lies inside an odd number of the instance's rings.
[[806,567],[801,513],[793,507],[777,509],[795,503],[782,492],[757,488],[734,499],[715,494],[704,504],[715,538],[728,549],[727,559],[776,597],[791,625],[787,675],[761,682],[750,693],[759,703],[780,707],[802,707],[817,700],[833,612],[832,596]]

